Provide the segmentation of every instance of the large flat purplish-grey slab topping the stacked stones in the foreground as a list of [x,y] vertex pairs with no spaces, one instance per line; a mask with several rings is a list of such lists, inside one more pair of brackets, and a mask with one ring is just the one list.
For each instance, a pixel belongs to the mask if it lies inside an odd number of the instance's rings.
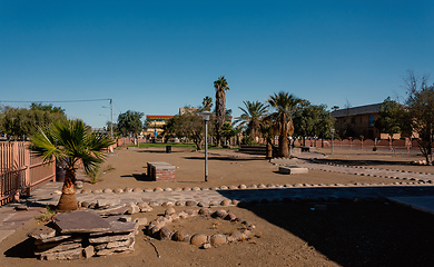
[[110,224],[91,211],[72,211],[57,215],[52,221],[61,234],[96,233],[110,229]]

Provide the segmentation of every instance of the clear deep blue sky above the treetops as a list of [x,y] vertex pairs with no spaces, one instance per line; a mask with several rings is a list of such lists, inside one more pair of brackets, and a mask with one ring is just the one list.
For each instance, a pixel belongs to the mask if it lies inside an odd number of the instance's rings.
[[[235,117],[278,91],[342,108],[405,98],[406,71],[434,69],[433,18],[417,0],[0,0],[0,101],[175,115],[214,99],[221,75]],[[109,117],[108,101],[53,105],[92,127]]]

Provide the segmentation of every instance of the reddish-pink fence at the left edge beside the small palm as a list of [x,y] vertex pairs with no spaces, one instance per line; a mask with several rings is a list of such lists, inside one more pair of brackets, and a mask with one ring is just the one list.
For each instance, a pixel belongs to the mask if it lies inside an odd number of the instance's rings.
[[56,159],[43,164],[28,149],[28,142],[0,142],[0,205],[55,179]]

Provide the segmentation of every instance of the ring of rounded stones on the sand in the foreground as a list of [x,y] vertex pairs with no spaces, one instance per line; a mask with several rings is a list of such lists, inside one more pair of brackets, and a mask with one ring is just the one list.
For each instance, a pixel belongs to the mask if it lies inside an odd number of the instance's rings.
[[[225,234],[214,234],[205,235],[200,233],[196,234],[186,234],[183,229],[177,229],[170,231],[166,225],[172,221],[178,221],[186,218],[215,218],[223,219],[233,222],[239,222],[244,230],[236,230],[230,235]],[[238,218],[235,214],[228,212],[224,209],[210,210],[208,208],[201,209],[185,209],[180,212],[176,212],[175,209],[168,208],[165,211],[165,216],[158,216],[156,219],[151,220],[149,225],[145,228],[148,236],[155,237],[159,240],[174,240],[174,241],[184,241],[200,248],[207,249],[211,247],[218,247],[225,244],[240,243],[245,240],[250,240],[253,237],[259,237],[254,235],[254,229],[256,226],[250,224],[247,220]]]

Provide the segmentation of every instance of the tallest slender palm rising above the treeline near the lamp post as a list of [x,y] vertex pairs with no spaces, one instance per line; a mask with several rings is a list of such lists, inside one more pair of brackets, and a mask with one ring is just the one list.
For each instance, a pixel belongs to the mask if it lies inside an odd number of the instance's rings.
[[219,131],[225,123],[226,117],[226,91],[229,90],[229,86],[225,79],[225,76],[220,76],[216,81],[214,81],[214,88],[216,89],[216,139],[217,147],[219,147],[221,141]]

